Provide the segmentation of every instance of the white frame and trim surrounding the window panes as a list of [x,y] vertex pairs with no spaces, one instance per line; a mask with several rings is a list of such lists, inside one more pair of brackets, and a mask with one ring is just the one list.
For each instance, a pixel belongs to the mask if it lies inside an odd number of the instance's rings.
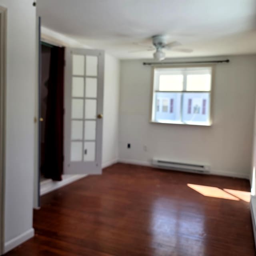
[[[155,76],[155,70],[159,70],[159,69],[170,69],[170,68],[211,68],[212,73],[211,73],[211,90],[210,91],[187,91],[185,90],[186,88],[186,76],[184,76],[184,80],[183,80],[183,90],[182,91],[159,91],[156,90],[159,86],[158,82],[156,82],[156,80],[158,79],[158,77]],[[152,66],[152,89],[151,89],[151,106],[150,106],[150,123],[154,123],[154,124],[182,124],[182,125],[192,125],[192,126],[212,126],[213,123],[213,91],[214,91],[214,74],[215,74],[215,65],[209,65],[209,64],[196,64],[196,65],[172,65],[172,66],[160,66],[160,65],[156,65],[156,66]],[[158,79],[159,81],[159,79]],[[204,124],[200,124],[200,122],[182,122],[182,121],[171,121],[171,122],[158,122],[156,120],[154,120],[154,114],[155,114],[155,109],[154,107],[156,106],[155,103],[155,92],[208,92],[210,94],[210,106],[209,106],[209,121],[208,123],[204,123]],[[160,104],[160,108],[161,108],[161,104]],[[182,111],[182,106],[181,106],[181,111]]]

